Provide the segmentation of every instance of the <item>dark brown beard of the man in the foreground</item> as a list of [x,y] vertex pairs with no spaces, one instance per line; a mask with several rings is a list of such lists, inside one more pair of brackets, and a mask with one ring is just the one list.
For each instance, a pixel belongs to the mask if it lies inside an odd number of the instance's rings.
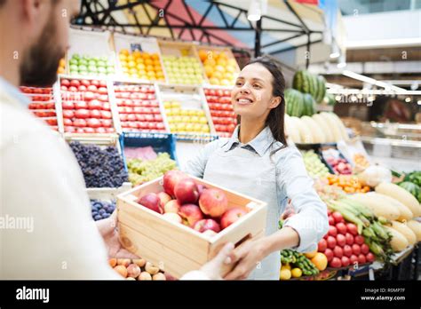
[[51,87],[57,80],[57,69],[64,52],[55,43],[55,23],[51,18],[36,44],[30,47],[20,64],[20,84]]

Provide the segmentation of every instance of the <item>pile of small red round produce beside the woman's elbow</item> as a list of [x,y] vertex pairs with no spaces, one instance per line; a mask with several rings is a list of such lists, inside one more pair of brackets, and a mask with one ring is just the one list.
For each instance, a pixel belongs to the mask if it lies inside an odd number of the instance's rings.
[[358,234],[353,223],[346,223],[340,212],[328,210],[329,232],[318,244],[317,251],[322,252],[330,267],[340,268],[349,265],[363,265],[375,260],[369,251],[364,237]]

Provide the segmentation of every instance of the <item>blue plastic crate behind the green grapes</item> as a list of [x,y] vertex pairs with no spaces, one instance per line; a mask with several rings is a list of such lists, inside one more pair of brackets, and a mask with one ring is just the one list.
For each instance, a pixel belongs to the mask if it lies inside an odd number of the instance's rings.
[[168,153],[177,165],[179,161],[176,155],[176,139],[170,133],[153,133],[153,132],[124,132],[120,135],[120,146],[123,152],[123,162],[127,169],[126,157],[124,155],[124,147],[153,147],[156,154]]

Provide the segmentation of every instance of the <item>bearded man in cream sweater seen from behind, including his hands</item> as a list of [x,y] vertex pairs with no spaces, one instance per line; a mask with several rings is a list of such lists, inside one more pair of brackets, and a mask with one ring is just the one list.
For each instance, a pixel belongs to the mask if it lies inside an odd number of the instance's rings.
[[[79,6],[75,0],[0,0],[1,279],[120,279],[107,253],[130,258],[117,241],[115,221],[98,229],[91,219],[74,155],[28,112],[17,88],[55,82]],[[186,278],[218,279],[232,247]]]

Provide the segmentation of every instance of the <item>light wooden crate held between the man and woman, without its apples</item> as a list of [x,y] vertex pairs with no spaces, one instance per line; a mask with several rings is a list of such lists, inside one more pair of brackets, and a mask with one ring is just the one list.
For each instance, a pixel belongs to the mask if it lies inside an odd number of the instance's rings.
[[[259,237],[266,228],[266,202],[212,185],[200,178],[194,179],[198,184],[222,189],[226,193],[229,208],[243,207],[250,210],[249,213],[218,234],[209,236],[166,220],[162,215],[135,202],[144,194],[163,191],[163,178],[117,196],[118,227],[123,247],[160,265],[160,268],[176,278],[198,270],[226,242],[238,243],[250,235]],[[226,266],[224,273],[229,270]]]

